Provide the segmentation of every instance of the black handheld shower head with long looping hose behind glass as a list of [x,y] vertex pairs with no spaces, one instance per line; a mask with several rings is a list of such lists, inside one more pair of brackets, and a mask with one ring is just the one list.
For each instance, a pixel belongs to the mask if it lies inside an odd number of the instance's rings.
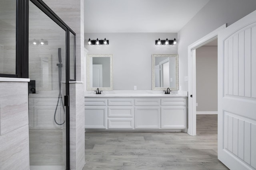
[[63,100],[62,100],[62,94],[61,94],[61,77],[62,77],[62,72],[61,72],[61,70],[62,70],[61,69],[62,68],[61,48],[58,48],[58,57],[59,57],[59,63],[57,64],[57,66],[59,68],[59,96],[58,96],[58,102],[57,102],[57,105],[56,105],[56,109],[55,109],[55,112],[54,112],[54,121],[57,125],[63,125],[65,123],[65,121],[63,123],[58,123],[56,121],[56,112],[57,112],[58,104],[59,104],[60,100],[61,100],[61,104],[62,104],[64,113],[65,113],[65,107],[64,107]]

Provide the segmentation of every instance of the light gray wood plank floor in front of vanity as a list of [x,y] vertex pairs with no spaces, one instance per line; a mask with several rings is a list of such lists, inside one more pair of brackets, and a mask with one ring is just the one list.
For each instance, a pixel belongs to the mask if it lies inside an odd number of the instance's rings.
[[217,115],[197,115],[197,136],[86,132],[83,170],[228,170],[217,158]]

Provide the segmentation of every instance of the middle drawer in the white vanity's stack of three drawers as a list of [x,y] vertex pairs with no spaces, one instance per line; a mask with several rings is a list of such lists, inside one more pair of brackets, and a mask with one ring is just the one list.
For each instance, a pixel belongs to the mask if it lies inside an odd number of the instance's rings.
[[108,117],[133,117],[133,107],[108,107]]

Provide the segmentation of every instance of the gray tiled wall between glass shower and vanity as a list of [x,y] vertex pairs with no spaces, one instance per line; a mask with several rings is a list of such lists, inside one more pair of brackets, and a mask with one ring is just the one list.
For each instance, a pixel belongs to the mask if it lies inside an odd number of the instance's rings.
[[[76,33],[76,81],[84,82],[84,0],[44,0]],[[84,83],[70,84],[70,169],[84,166]]]

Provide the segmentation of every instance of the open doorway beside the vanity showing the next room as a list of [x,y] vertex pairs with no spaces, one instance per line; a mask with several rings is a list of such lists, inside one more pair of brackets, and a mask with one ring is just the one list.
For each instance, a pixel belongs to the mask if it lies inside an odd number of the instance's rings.
[[[218,127],[218,39],[196,49],[196,133]],[[207,133],[209,133],[207,131]]]

